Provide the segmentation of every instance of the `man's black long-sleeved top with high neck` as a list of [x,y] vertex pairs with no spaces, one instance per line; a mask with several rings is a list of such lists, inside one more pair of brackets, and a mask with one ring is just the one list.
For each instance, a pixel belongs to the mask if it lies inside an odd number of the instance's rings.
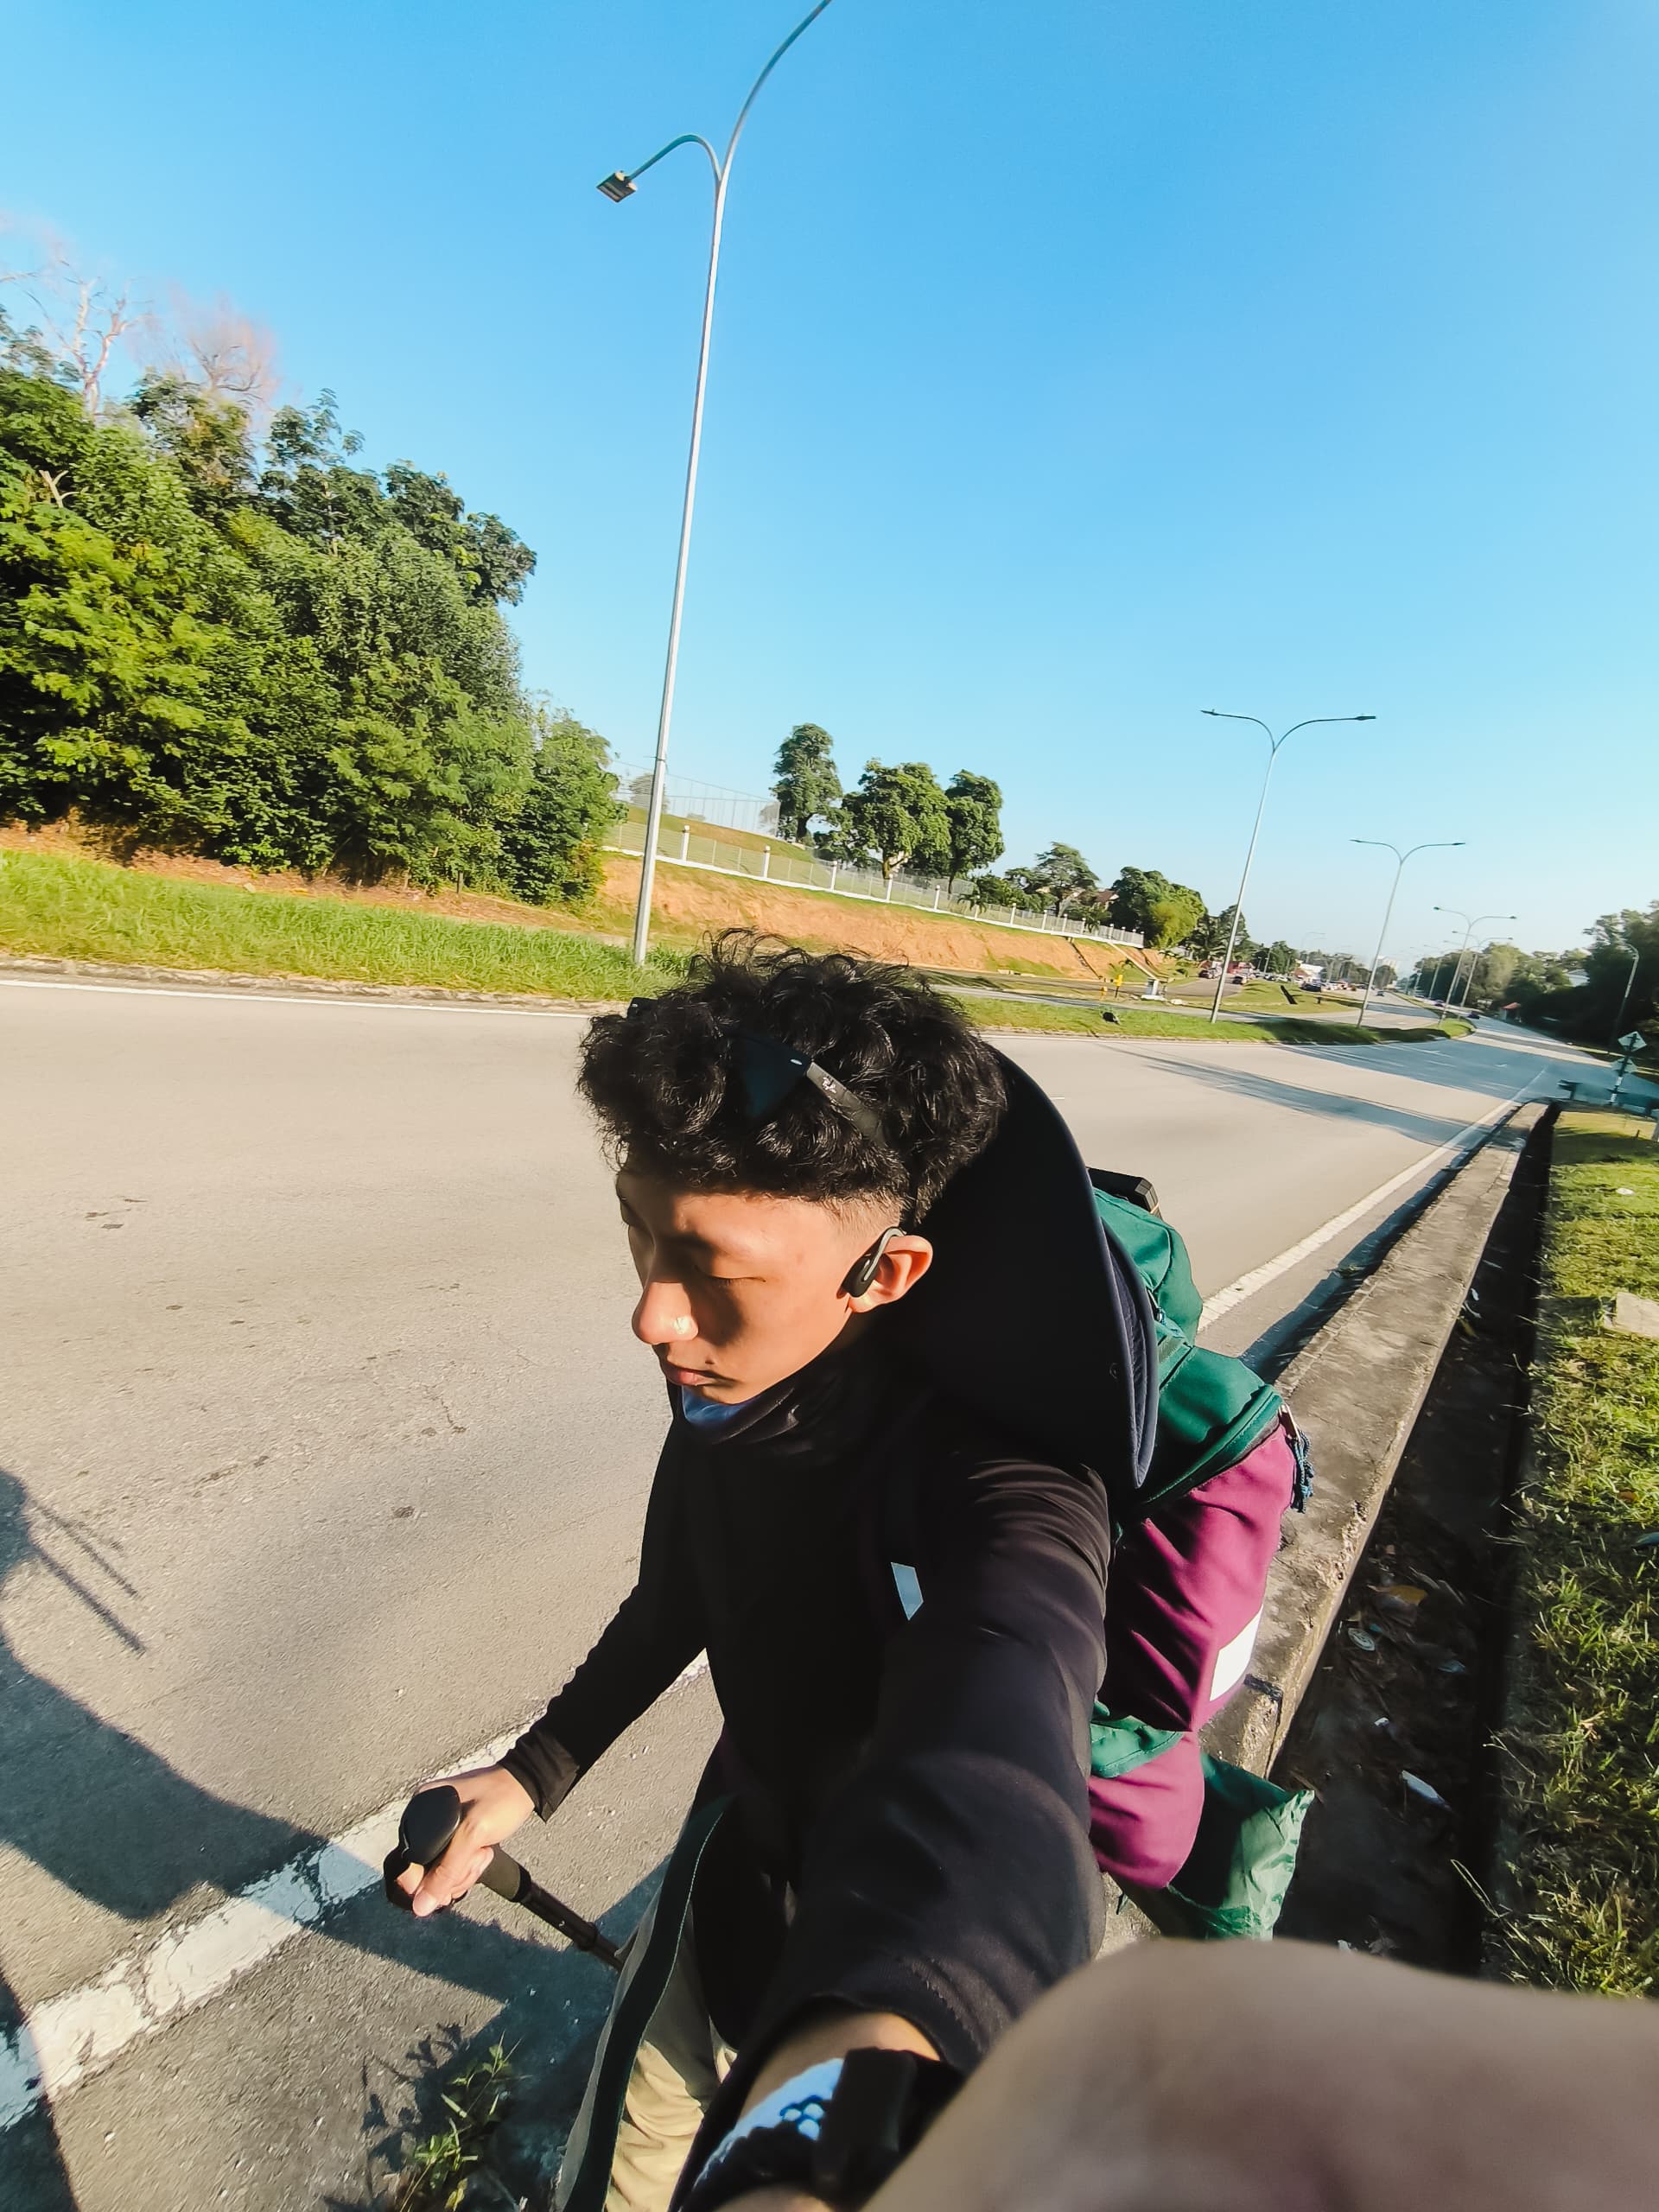
[[710,1433],[675,1402],[637,1586],[504,1765],[546,1818],[708,1650],[739,1818],[697,1953],[743,2073],[821,2006],[898,2013],[967,2073],[1093,1958],[1108,1531],[1095,1471],[975,1433],[872,1338]]

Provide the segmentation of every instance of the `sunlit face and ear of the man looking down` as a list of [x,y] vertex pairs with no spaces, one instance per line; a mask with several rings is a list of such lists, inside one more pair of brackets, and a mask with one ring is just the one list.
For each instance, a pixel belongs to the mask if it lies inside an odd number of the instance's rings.
[[617,1199],[639,1274],[633,1332],[670,1383],[741,1405],[816,1360],[854,1314],[891,1305],[933,1248],[891,1237],[872,1287],[847,1296],[858,1259],[894,1225],[887,1201],[858,1208],[741,1190],[677,1190],[624,1168]]

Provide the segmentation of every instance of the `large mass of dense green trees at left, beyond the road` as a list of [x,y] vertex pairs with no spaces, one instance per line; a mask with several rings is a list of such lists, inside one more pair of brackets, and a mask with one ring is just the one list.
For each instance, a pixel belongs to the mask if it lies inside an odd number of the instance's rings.
[[261,453],[181,378],[93,418],[0,345],[0,821],[363,883],[591,885],[606,750],[526,701],[498,604],[533,553],[356,449],[327,394]]

